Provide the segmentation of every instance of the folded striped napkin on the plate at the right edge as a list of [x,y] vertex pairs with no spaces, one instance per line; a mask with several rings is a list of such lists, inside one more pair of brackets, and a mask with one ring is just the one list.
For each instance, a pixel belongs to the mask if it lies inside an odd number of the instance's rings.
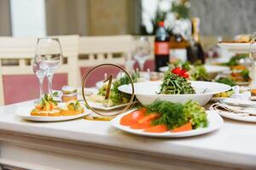
[[236,116],[256,116],[256,108],[253,107],[241,107],[215,103],[210,106],[210,110],[217,112],[225,112]]

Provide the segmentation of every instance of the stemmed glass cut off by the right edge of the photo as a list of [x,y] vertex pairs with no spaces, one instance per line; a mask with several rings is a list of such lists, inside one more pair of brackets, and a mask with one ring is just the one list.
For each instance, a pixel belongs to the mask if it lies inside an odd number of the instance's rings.
[[252,89],[256,89],[256,32],[253,33],[251,37],[251,43],[249,48],[249,59],[252,62],[252,68],[250,71],[250,77],[252,78],[252,82],[249,84],[249,87]]

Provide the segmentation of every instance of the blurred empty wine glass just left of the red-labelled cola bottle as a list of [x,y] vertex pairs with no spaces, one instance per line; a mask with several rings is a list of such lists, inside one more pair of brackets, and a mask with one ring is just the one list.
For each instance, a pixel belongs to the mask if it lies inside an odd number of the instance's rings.
[[137,60],[140,71],[143,71],[146,60],[150,57],[150,43],[148,37],[138,37],[135,41],[135,48],[133,52],[134,59]]

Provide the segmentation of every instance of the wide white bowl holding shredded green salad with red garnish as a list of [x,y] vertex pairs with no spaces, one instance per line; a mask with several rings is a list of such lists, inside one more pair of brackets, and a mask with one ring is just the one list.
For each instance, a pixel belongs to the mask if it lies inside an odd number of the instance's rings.
[[[137,99],[143,105],[150,105],[156,99],[185,104],[189,100],[206,105],[213,94],[230,90],[230,86],[218,82],[189,81],[189,73],[182,68],[166,71],[163,80],[134,83]],[[131,94],[131,84],[119,86],[119,90]]]

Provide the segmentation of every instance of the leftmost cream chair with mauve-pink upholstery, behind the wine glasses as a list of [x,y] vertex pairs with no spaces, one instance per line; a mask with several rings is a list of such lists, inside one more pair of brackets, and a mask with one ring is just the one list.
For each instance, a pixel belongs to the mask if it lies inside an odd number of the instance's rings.
[[[60,36],[63,64],[56,71],[54,88],[77,86],[79,36]],[[37,78],[32,62],[37,38],[0,37],[0,105],[38,96]]]

